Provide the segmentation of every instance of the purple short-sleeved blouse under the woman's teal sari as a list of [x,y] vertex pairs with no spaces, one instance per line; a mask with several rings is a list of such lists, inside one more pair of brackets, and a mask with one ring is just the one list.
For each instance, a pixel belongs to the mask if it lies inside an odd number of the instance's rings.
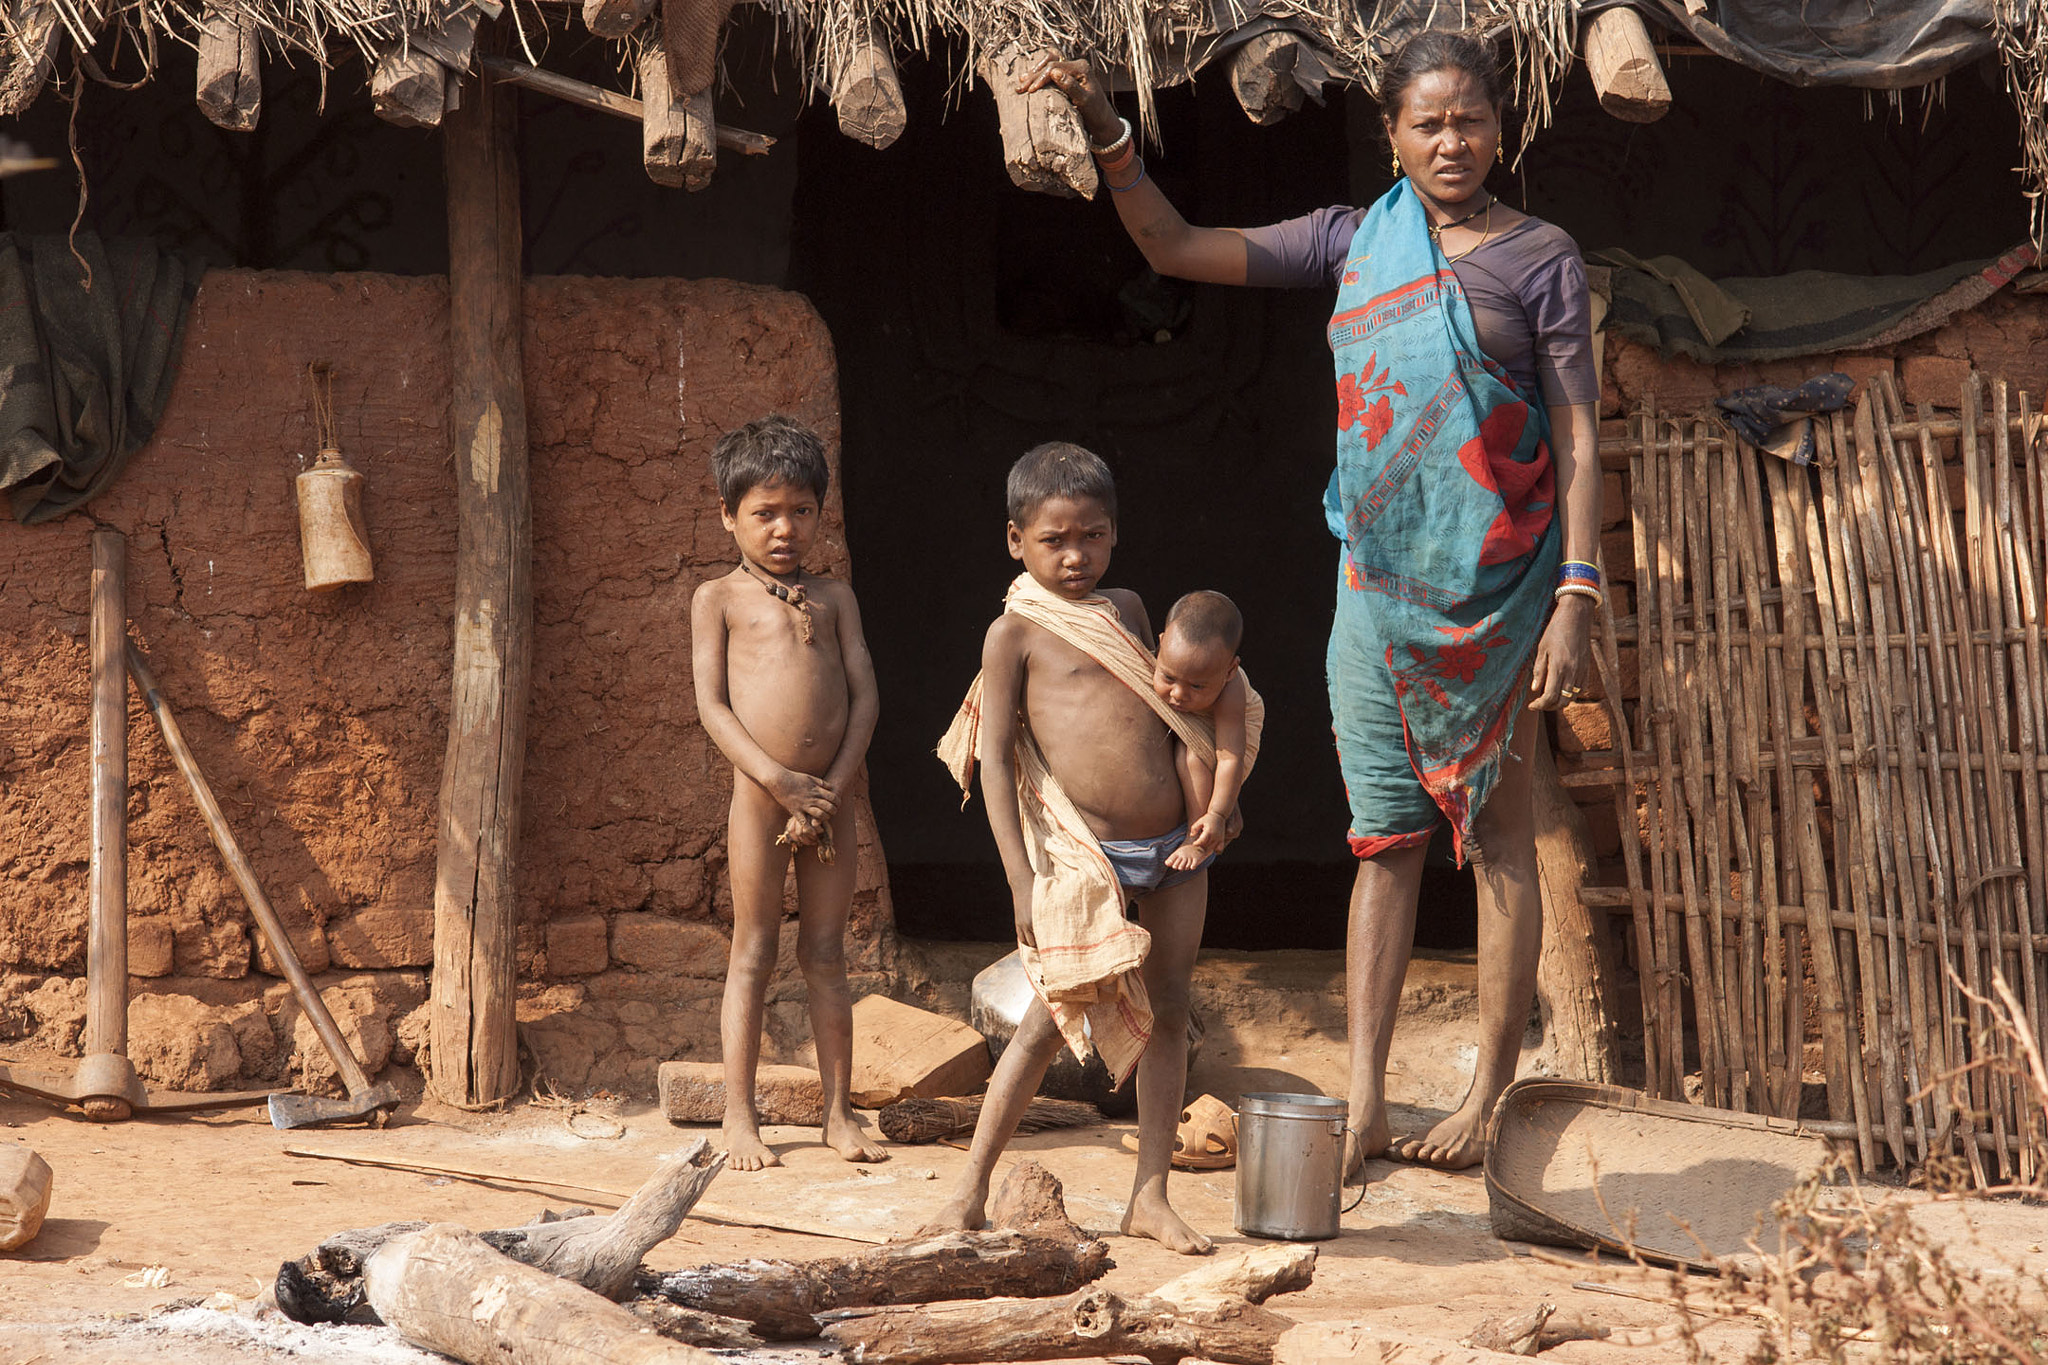
[[[1337,284],[1364,209],[1317,209],[1247,227],[1245,282],[1272,289]],[[1593,313],[1579,246],[1563,227],[1522,219],[1450,264],[1473,305],[1479,348],[1544,407],[1599,401]]]

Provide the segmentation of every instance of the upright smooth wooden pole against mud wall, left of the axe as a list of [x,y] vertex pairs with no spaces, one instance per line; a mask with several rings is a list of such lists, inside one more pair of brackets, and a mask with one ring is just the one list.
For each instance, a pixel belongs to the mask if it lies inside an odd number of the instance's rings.
[[[92,532],[92,886],[86,937],[86,1056],[127,1056],[127,536]],[[115,1097],[86,1117],[125,1119]]]

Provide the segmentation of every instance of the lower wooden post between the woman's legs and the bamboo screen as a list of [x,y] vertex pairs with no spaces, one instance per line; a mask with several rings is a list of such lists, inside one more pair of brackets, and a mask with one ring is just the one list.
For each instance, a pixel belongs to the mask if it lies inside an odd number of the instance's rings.
[[[1614,939],[1608,915],[1579,898],[1579,886],[1593,866],[1593,849],[1585,817],[1559,782],[1550,739],[1542,731],[1536,735],[1530,772],[1530,819],[1536,825],[1536,880],[1542,886],[1536,999],[1542,1003],[1544,1048],[1559,1074],[1614,1083],[1620,1072]],[[1622,831],[1624,839],[1630,835],[1632,831]]]

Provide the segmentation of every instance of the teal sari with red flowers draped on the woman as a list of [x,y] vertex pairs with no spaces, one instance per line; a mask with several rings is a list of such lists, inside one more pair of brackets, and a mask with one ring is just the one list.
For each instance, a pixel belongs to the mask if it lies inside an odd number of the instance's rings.
[[1448,817],[1462,857],[1556,585],[1548,420],[1479,350],[1407,180],[1352,237],[1329,348],[1323,514],[1343,557],[1327,667],[1352,851],[1423,843]]

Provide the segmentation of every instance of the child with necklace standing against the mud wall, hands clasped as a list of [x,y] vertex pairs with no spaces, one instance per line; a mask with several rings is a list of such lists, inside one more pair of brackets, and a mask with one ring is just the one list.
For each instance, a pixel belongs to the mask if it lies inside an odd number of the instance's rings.
[[[852,587],[803,571],[823,516],[825,446],[791,417],[764,417],[727,432],[711,467],[719,516],[739,548],[739,565],[698,587],[690,602],[696,712],[733,763],[725,841],[733,958],[719,1013],[727,1169],[782,1164],[762,1142],[754,1070],[791,857],[797,860],[797,962],[811,997],[811,1038],[825,1091],[823,1138],[846,1160],[887,1160],[848,1103],[850,796],[879,706]],[[846,855],[834,855],[836,849]]]

